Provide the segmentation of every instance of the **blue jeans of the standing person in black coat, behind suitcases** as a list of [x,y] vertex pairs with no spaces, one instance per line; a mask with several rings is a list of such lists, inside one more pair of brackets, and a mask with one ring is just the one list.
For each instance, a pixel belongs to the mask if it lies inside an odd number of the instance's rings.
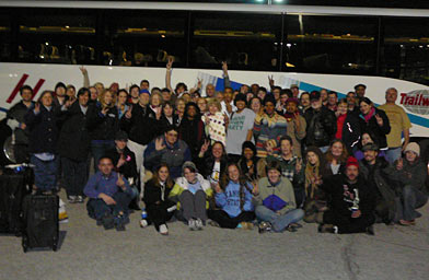
[[53,190],[57,187],[58,156],[51,161],[42,161],[34,154],[30,162],[34,164],[34,184],[39,190]]

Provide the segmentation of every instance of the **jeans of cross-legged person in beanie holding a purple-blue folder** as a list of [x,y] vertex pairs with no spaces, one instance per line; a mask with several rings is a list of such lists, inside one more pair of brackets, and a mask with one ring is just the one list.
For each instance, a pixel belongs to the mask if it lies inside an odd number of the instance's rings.
[[270,222],[275,232],[282,232],[290,223],[295,223],[304,217],[302,209],[292,209],[285,214],[277,214],[265,206],[257,206],[256,218],[260,221]]

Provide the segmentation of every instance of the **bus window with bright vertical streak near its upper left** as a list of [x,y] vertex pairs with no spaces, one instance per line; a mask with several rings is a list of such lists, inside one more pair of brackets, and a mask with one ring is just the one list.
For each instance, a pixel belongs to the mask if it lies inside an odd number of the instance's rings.
[[288,14],[286,30],[288,71],[374,73],[375,18]]

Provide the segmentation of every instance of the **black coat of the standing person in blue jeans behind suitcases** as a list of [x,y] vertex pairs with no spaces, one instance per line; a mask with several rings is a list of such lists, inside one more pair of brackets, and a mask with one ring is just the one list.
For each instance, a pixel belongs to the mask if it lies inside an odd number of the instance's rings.
[[60,107],[48,110],[40,105],[40,112],[34,114],[34,107],[25,115],[25,124],[30,130],[30,153],[56,153],[58,141],[58,124]]

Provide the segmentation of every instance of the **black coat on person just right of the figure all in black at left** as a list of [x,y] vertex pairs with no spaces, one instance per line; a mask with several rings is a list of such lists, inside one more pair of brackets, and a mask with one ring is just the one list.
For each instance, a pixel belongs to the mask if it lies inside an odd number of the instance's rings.
[[86,128],[91,140],[114,140],[119,130],[119,115],[116,106],[109,108],[106,115],[102,114],[100,103],[88,108]]

